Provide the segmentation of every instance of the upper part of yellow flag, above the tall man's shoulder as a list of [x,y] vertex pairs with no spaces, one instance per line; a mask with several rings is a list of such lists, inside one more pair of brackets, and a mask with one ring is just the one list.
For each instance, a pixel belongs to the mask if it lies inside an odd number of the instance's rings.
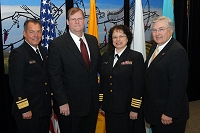
[[95,0],[90,0],[90,15],[88,24],[88,34],[98,37],[98,26],[97,26],[97,14],[96,14],[96,2]]

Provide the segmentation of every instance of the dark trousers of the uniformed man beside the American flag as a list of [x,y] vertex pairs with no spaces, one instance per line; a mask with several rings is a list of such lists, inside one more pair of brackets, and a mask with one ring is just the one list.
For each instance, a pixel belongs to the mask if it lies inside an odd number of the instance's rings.
[[49,133],[50,117],[23,119],[15,117],[18,133]]

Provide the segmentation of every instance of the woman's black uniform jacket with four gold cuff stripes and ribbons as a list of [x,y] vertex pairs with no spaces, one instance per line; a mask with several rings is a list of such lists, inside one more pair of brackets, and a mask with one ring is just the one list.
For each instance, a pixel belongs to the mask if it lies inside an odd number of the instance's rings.
[[138,112],[144,89],[144,59],[126,48],[113,67],[114,51],[102,57],[100,88],[102,110],[115,113]]

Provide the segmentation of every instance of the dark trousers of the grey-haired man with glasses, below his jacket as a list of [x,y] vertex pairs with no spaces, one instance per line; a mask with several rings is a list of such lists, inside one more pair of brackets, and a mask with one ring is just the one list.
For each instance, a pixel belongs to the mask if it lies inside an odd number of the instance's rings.
[[180,124],[163,126],[151,125],[152,133],[185,133],[186,121]]

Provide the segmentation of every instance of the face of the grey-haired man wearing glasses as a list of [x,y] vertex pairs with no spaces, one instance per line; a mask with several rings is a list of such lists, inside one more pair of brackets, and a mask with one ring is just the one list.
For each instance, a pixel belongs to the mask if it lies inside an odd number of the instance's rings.
[[153,39],[159,46],[166,43],[172,34],[173,30],[168,27],[165,20],[155,22],[152,27]]

